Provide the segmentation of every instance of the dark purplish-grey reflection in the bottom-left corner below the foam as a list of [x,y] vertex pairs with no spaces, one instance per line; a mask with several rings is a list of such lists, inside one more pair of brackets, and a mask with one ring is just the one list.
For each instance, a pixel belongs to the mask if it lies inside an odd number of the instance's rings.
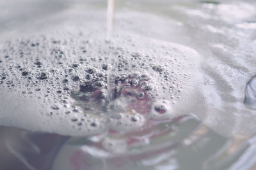
[[24,131],[14,127],[0,127],[0,162],[5,170],[46,170],[65,136]]

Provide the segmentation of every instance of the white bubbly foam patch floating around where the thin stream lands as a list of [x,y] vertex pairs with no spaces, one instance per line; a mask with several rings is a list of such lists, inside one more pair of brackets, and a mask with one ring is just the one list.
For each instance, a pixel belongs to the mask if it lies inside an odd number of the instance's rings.
[[86,41],[76,31],[4,43],[0,111],[12,118],[0,124],[24,117],[15,126],[77,136],[134,131],[175,117],[173,103],[186,92],[190,56],[197,55],[180,45],[134,38],[143,43]]

